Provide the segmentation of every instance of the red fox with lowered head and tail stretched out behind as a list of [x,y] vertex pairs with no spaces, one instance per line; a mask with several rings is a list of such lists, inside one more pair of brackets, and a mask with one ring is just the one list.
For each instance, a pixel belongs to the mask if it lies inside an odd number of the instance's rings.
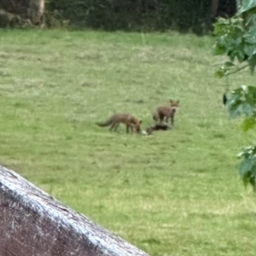
[[142,120],[138,120],[136,117],[131,115],[131,113],[114,113],[112,117],[110,117],[106,122],[104,123],[96,123],[96,125],[99,126],[110,126],[110,131],[114,128],[114,131],[117,131],[117,128],[119,127],[120,123],[123,123],[126,125],[126,132],[129,132],[129,129],[131,129],[131,133],[133,132],[133,128],[137,131],[137,133],[141,133],[141,123]]

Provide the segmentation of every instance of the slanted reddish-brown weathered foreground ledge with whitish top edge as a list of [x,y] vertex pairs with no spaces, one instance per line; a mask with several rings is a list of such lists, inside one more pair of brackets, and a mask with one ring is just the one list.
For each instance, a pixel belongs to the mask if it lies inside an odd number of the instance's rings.
[[146,256],[0,166],[1,256]]

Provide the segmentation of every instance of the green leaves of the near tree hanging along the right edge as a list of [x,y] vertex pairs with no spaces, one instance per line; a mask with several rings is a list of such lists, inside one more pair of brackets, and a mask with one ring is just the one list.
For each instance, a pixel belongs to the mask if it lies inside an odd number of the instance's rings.
[[[243,0],[236,15],[230,19],[220,18],[214,24],[217,37],[215,55],[227,55],[229,61],[219,67],[218,77],[228,76],[249,67],[254,73],[256,67],[256,0]],[[243,116],[242,130],[256,126],[256,87],[241,85],[231,91],[226,104],[230,116]],[[240,174],[245,185],[250,183],[256,191],[256,145],[244,148],[239,157],[243,158]]]

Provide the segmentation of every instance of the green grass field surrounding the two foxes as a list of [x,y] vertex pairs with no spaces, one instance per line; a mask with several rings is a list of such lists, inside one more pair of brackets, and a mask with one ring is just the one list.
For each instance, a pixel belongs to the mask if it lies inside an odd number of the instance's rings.
[[[255,141],[222,94],[253,84],[214,72],[214,38],[123,32],[0,31],[0,165],[151,256],[254,256],[255,194],[236,154]],[[95,125],[115,112],[154,123],[180,100],[176,129],[154,136]]]

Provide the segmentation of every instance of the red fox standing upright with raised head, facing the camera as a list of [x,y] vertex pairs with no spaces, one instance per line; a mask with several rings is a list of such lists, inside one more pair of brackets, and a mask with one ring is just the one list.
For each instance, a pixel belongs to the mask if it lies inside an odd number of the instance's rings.
[[168,123],[168,119],[171,118],[172,126],[174,125],[174,116],[179,106],[179,101],[170,100],[171,106],[160,106],[156,108],[156,111],[153,115],[153,119],[157,121],[160,119],[160,122],[164,120],[166,117],[166,123]]

